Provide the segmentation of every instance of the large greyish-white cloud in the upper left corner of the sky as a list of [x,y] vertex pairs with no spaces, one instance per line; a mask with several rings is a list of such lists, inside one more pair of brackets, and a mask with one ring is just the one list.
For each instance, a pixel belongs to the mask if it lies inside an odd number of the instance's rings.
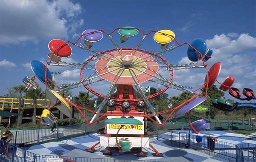
[[81,11],[79,3],[70,0],[2,0],[0,44],[67,38],[84,23],[76,20]]

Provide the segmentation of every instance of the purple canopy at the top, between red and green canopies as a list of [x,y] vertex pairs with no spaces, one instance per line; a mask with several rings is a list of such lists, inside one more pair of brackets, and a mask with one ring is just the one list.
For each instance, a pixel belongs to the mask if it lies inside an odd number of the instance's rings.
[[103,38],[102,32],[97,29],[87,29],[82,33],[82,35],[84,40],[87,40],[88,42],[98,42]]

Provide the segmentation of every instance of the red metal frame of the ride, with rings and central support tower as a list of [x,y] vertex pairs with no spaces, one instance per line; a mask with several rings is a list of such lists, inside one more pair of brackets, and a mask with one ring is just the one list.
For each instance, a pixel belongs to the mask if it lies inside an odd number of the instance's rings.
[[[119,30],[120,28],[115,28],[113,31],[111,31],[110,33],[107,33],[103,30],[98,30],[98,31],[101,31],[102,33],[104,34],[107,34],[108,36],[112,36],[113,34],[116,33],[117,30]],[[139,28],[136,28],[142,35],[143,37],[147,37],[148,35],[152,34],[152,33],[156,33],[158,31],[154,31],[154,30],[151,30],[150,32],[148,33],[143,33],[143,31],[141,31]],[[94,31],[96,32],[96,31]],[[161,33],[161,32],[158,32],[158,33]],[[163,34],[163,33],[162,33]],[[166,35],[169,35],[169,34],[166,34]],[[63,45],[67,44],[67,43],[71,43],[73,45],[77,45],[79,46],[78,42],[79,40],[81,39],[81,37],[83,36],[83,34],[80,35],[80,37],[78,38],[78,40],[76,40],[76,42],[70,42],[70,41],[67,41],[65,42]],[[172,35],[169,35],[171,37],[173,37]],[[110,37],[111,38],[111,37]],[[143,38],[143,39],[144,39]],[[198,91],[198,90],[201,90],[202,88],[205,88],[206,89],[206,93],[205,93],[205,97],[207,97],[207,91],[208,91],[208,83],[209,83],[209,73],[208,73],[208,65],[204,62],[204,60],[202,59],[203,58],[203,54],[201,54],[197,49],[195,49],[194,47],[192,47],[192,45],[190,45],[189,43],[179,43],[177,41],[177,39],[175,37],[174,38],[174,41],[173,41],[173,45],[174,45],[174,48],[177,48],[177,47],[180,47],[182,45],[188,45],[189,47],[193,48],[195,51],[198,52],[199,56],[198,56],[198,61],[195,65],[198,64],[199,60],[202,60],[202,63],[203,63],[203,66],[206,68],[206,72],[207,72],[207,75],[206,75],[206,78],[207,80],[204,82],[204,84],[198,88],[197,90],[195,91]],[[177,45],[175,44],[177,43]],[[59,48],[57,48],[55,51],[59,50],[60,48],[63,47],[63,45],[61,45]],[[116,45],[116,44],[115,44]],[[172,71],[172,65],[170,65],[168,63],[167,60],[165,60],[163,57],[155,54],[154,52],[151,52],[151,51],[146,51],[146,50],[143,50],[143,49],[138,49],[139,45],[136,45],[134,48],[121,48],[119,47],[119,45],[116,45],[116,49],[109,49],[109,50],[106,50],[106,51],[100,51],[100,52],[97,52],[95,55],[93,55],[92,57],[90,57],[82,66],[81,66],[81,69],[80,69],[80,80],[84,80],[84,71],[83,69],[87,66],[87,64],[90,62],[90,60],[93,60],[95,57],[98,57],[98,56],[102,56],[104,54],[110,54],[111,55],[111,52],[112,51],[116,51],[116,50],[119,50],[122,52],[122,50],[130,50],[131,53],[133,54],[134,51],[138,50],[138,51],[142,51],[143,54],[149,54],[151,56],[157,56],[160,58],[160,62],[166,64],[170,70],[170,79],[169,81],[172,82],[173,81],[173,78],[174,78],[174,73]],[[55,51],[53,53],[55,53]],[[46,89],[48,88],[48,86],[50,84],[53,84],[55,87],[57,87],[59,89],[59,87],[57,85],[54,84],[54,82],[52,81],[49,81],[48,78],[47,78],[47,65],[50,65],[51,61],[52,61],[52,58],[53,57],[57,57],[56,55],[52,54],[51,55],[51,58],[50,58],[50,61],[49,63],[47,62],[46,63],[46,68],[45,68],[45,86],[46,86]],[[57,64],[59,64],[60,62],[58,61]],[[97,71],[98,72],[98,71]],[[137,79],[137,77],[135,76],[135,78]],[[218,81],[217,81],[218,82]],[[98,96],[98,97],[102,97],[102,98],[105,98],[106,96],[103,95],[103,94],[100,94],[98,93],[97,91],[94,91],[92,88],[90,88],[88,85],[86,85],[85,82],[81,82],[83,84],[83,86],[88,90],[90,91],[92,94]],[[152,94],[150,96],[147,97],[147,99],[151,99],[151,98],[154,98],[154,97],[157,97],[159,96],[160,94],[163,94],[165,91],[167,91],[167,89],[169,88],[169,86],[171,86],[171,84],[168,84],[168,86],[166,86],[166,88],[163,88],[161,89],[160,91],[157,91],[155,94]],[[127,88],[127,89],[125,89]],[[127,91],[128,90],[128,91]],[[195,92],[194,91],[194,92]],[[127,98],[125,98],[125,96],[128,96]],[[107,117],[107,116],[124,116],[124,117],[127,117],[127,116],[134,116],[134,117],[145,117],[147,119],[149,119],[150,121],[156,123],[158,126],[164,126],[166,124],[166,122],[169,120],[169,118],[174,114],[175,111],[177,111],[179,108],[181,108],[182,106],[186,105],[187,103],[191,102],[193,99],[195,99],[196,97],[199,97],[201,96],[201,93],[198,93],[196,94],[195,96],[191,97],[190,99],[188,99],[187,101],[183,102],[182,104],[178,105],[177,107],[173,108],[173,109],[170,109],[170,110],[166,110],[166,111],[161,111],[161,112],[157,112],[156,114],[153,114],[153,113],[150,113],[150,114],[145,114],[145,111],[137,111],[137,104],[136,102],[138,101],[141,101],[143,100],[141,97],[140,98],[134,98],[134,89],[132,87],[132,85],[120,85],[120,88],[119,88],[119,93],[118,93],[118,97],[111,97],[110,99],[111,100],[114,100],[116,101],[116,105],[115,105],[115,110],[113,111],[107,111],[107,113],[99,113],[99,112],[96,112],[96,111],[92,111],[92,110],[89,110],[87,108],[82,108],[76,104],[74,104],[73,102],[70,102],[69,100],[65,99],[68,103],[70,103],[70,105],[72,105],[74,108],[77,109],[77,111],[79,111],[79,113],[81,114],[81,116],[83,117],[84,121],[87,122],[87,124],[89,125],[92,125],[93,123],[99,121],[100,119],[104,118],[104,117]],[[122,107],[121,107],[121,103],[122,102],[130,102],[131,104],[131,107],[130,107],[130,111],[122,111]],[[52,106],[53,107],[53,106]],[[52,108],[50,107],[50,108]],[[49,109],[50,109],[49,108]],[[99,117],[97,119],[95,119],[93,122],[89,122],[89,120],[87,119],[87,117],[84,116],[84,114],[82,113],[82,110],[85,110],[85,111],[88,111],[88,112],[91,112],[93,114],[97,114],[99,115]],[[164,120],[164,122],[162,124],[159,124],[158,122],[156,122],[152,117],[155,116],[155,115],[160,115],[160,114],[165,114],[165,113],[169,113],[168,117]],[[193,131],[195,131],[195,133],[198,133],[195,128],[192,126],[191,122],[190,122],[190,111],[188,113],[189,115],[189,125],[190,127],[192,128]],[[120,130],[120,129],[119,129]],[[118,130],[118,132],[119,132]],[[118,132],[116,134],[116,140],[117,140],[117,136],[118,136]],[[111,134],[107,134],[107,136],[111,136]],[[144,135],[139,135],[140,137],[143,137]],[[96,147],[96,145],[99,145],[99,142],[97,142],[95,145],[93,145],[92,147],[90,147],[88,150],[89,151],[92,151],[93,148]],[[117,144],[118,148],[119,148],[119,151],[122,152],[122,150],[120,149],[119,145]],[[154,153],[156,155],[160,155],[160,153],[151,145],[149,144],[149,146],[154,150]],[[110,153],[109,150],[107,150],[107,153]],[[142,153],[142,152],[141,152]],[[139,153],[140,154],[140,153]]]

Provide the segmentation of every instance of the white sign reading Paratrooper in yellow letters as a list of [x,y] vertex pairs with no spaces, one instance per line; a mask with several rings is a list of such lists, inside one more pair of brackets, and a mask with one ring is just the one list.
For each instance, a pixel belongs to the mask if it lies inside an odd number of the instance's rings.
[[[120,116],[108,116],[108,119],[119,118]],[[107,134],[144,134],[144,117],[127,117],[140,120],[143,125],[121,125],[121,124],[107,124]]]

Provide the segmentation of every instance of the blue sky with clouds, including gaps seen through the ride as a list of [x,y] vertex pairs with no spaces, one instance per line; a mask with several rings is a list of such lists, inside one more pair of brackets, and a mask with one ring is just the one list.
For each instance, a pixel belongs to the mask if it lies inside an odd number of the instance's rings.
[[[32,60],[45,63],[52,39],[75,40],[89,28],[110,32],[114,28],[134,26],[143,31],[169,29],[175,37],[191,43],[197,38],[207,42],[213,50],[209,67],[221,62],[218,80],[227,76],[236,79],[233,87],[256,91],[256,1],[183,1],[183,0],[1,0],[0,5],[0,96],[7,88],[20,85],[24,76],[33,76]],[[117,36],[115,37],[117,40]],[[134,47],[140,36],[131,38],[122,47]],[[104,37],[94,43],[93,50],[107,50],[113,45]],[[160,45],[149,37],[141,48],[160,51]],[[82,62],[90,54],[72,47],[70,62]],[[189,63],[186,47],[164,55],[169,63]],[[79,81],[79,69],[49,67],[61,72],[55,76],[58,85]],[[84,75],[92,72],[84,71]],[[205,71],[175,71],[174,81],[195,88],[203,84]],[[40,87],[44,85],[37,80]],[[152,87],[156,85],[148,83]],[[219,87],[218,83],[215,83]],[[106,94],[110,83],[94,85],[96,91]],[[146,85],[143,85],[146,86]],[[73,95],[84,88],[73,90]],[[169,96],[180,92],[169,90]],[[226,92],[227,98],[232,98]]]

